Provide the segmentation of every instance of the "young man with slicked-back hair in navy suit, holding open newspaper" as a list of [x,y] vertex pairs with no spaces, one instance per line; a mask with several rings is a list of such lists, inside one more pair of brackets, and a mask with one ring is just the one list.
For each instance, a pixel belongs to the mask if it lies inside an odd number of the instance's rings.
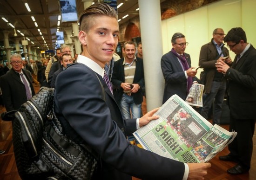
[[144,180],[202,179],[209,163],[184,164],[131,145],[126,139],[158,117],[153,116],[157,110],[154,109],[139,119],[123,120],[109,89],[111,84],[104,76],[104,66],[112,59],[118,43],[115,9],[95,3],[81,14],[79,22],[78,37],[83,46],[78,56],[80,64],[71,65],[58,75],[55,113],[69,137],[97,152],[99,168],[93,179],[131,180],[131,176]]

